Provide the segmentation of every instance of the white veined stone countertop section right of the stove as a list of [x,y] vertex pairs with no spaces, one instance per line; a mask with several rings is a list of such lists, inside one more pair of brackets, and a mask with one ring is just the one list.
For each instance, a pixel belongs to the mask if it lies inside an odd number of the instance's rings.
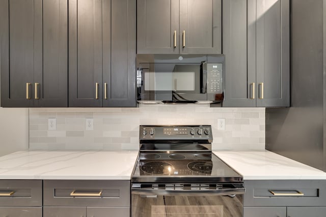
[[244,180],[326,179],[326,173],[270,151],[213,151]]

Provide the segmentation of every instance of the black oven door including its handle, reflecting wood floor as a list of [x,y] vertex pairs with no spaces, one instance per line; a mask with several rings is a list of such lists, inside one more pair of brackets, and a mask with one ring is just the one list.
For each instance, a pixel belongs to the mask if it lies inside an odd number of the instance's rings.
[[243,193],[131,189],[132,217],[242,217]]

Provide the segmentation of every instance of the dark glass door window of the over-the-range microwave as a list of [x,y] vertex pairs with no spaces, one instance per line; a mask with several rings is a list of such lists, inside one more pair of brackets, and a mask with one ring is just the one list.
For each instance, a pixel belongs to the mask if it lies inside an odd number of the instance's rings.
[[143,71],[146,91],[195,91],[199,89],[200,65],[198,64],[150,64],[150,67]]

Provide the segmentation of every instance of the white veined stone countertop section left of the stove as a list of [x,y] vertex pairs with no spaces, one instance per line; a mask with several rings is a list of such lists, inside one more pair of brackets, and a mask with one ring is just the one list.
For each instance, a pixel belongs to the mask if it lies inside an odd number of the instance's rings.
[[0,179],[130,180],[138,151],[18,151],[0,157]]

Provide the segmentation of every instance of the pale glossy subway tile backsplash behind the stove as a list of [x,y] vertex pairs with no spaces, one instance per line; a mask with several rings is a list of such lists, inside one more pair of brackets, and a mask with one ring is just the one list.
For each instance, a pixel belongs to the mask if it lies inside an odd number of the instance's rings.
[[[56,130],[48,130],[56,118]],[[93,130],[86,130],[93,118]],[[218,130],[225,118],[225,130]],[[139,149],[139,125],[211,125],[213,150],[265,149],[265,108],[140,105],[139,108],[30,108],[30,150]]]

